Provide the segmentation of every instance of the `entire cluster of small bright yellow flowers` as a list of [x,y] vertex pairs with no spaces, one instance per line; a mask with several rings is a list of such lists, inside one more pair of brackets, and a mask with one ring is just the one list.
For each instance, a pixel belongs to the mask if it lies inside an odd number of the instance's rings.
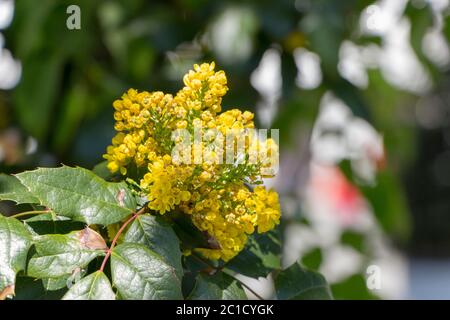
[[[266,232],[279,223],[278,194],[259,185],[263,177],[273,176],[264,169],[276,164],[278,146],[252,135],[241,142],[236,137],[231,144],[226,141],[230,130],[253,129],[253,114],[237,109],[220,113],[227,79],[214,68],[214,63],[194,65],[175,97],[128,90],[113,104],[117,134],[104,158],[113,173],[138,173],[132,178],[139,180],[150,209],[190,215],[208,234],[209,248],[198,252],[228,261],[255,230]],[[202,128],[202,140],[195,144],[195,134],[187,137],[194,142],[186,150],[192,161],[175,161],[172,153],[181,138],[173,133],[185,129],[192,134],[196,128]],[[230,149],[232,161],[223,163]],[[198,150],[201,161],[196,161]],[[252,189],[252,184],[257,186]]]

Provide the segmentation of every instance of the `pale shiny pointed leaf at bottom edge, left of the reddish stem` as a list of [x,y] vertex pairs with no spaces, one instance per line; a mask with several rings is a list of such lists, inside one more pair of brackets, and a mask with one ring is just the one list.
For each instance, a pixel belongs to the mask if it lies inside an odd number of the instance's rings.
[[97,271],[75,283],[63,300],[114,300],[111,283],[106,275]]

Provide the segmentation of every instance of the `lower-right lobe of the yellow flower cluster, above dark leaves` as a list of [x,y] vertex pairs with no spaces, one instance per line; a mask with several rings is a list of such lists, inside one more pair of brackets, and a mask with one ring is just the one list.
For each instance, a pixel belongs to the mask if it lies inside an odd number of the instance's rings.
[[253,192],[244,185],[213,191],[197,201],[192,221],[210,236],[211,249],[197,249],[209,259],[228,261],[247,243],[248,235],[257,227],[258,233],[267,232],[280,222],[278,194],[257,186]]

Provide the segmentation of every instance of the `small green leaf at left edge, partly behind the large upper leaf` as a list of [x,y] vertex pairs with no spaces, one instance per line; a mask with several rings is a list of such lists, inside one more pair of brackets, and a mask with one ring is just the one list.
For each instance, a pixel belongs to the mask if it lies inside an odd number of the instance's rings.
[[19,179],[14,176],[0,174],[0,200],[10,200],[20,203],[39,203]]

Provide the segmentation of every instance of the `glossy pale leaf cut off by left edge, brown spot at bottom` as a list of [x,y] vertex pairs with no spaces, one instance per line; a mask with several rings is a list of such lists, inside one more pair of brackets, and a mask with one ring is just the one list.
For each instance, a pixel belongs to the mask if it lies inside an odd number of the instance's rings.
[[14,294],[16,274],[24,270],[31,235],[23,224],[0,214],[0,299]]

